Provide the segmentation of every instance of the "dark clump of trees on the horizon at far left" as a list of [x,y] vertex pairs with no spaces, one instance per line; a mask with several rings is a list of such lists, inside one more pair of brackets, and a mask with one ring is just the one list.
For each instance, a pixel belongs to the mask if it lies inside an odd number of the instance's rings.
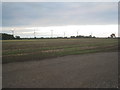
[[20,36],[13,36],[11,34],[0,33],[1,40],[13,40],[13,39],[21,39]]

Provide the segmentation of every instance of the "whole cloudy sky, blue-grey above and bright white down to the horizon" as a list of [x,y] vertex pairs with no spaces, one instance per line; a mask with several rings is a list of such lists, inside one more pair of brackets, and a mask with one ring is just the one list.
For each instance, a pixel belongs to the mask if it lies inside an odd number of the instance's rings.
[[117,2],[3,2],[2,15],[2,32],[21,37],[118,33]]

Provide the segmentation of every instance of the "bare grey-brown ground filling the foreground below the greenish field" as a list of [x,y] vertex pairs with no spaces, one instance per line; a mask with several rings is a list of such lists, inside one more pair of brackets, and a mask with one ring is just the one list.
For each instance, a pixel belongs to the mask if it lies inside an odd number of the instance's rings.
[[3,64],[3,88],[117,88],[118,53]]

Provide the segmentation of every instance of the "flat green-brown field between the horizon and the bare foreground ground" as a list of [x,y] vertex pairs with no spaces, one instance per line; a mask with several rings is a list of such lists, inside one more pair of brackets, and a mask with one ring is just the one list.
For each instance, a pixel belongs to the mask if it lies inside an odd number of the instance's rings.
[[43,60],[118,50],[118,39],[23,39],[2,40],[2,63]]

